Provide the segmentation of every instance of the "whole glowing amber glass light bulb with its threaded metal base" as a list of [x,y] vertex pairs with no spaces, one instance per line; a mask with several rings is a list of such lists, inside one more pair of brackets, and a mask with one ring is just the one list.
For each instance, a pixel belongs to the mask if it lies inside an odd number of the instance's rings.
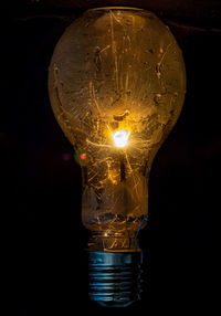
[[82,166],[90,296],[127,306],[140,297],[137,236],[148,218],[150,167],[185,99],[181,51],[148,11],[88,10],[54,50],[49,92]]

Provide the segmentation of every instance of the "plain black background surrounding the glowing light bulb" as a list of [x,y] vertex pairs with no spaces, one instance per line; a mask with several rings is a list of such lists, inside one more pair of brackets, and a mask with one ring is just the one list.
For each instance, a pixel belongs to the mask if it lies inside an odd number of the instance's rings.
[[86,8],[42,2],[18,1],[6,11],[0,150],[1,214],[6,214],[2,272],[9,301],[2,315],[211,310],[214,239],[210,232],[220,209],[220,12],[188,20],[156,11],[182,49],[187,96],[151,169],[149,222],[140,233],[143,301],[113,310],[87,298],[84,247],[90,233],[81,223],[81,169],[48,96],[54,45]]

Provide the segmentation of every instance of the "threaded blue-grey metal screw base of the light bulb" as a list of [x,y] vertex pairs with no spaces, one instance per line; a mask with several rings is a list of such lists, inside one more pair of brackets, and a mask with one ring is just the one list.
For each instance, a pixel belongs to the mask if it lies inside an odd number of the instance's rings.
[[106,307],[140,299],[141,252],[88,252],[90,298]]

